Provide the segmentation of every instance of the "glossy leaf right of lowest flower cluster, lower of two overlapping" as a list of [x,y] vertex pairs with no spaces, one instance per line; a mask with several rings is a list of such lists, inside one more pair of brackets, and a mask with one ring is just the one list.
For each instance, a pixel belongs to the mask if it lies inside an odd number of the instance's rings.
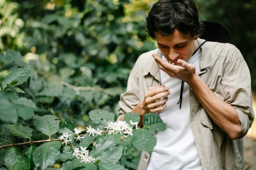
[[106,149],[103,153],[97,156],[95,161],[100,160],[100,163],[113,162],[116,163],[123,155],[123,147],[113,147]]

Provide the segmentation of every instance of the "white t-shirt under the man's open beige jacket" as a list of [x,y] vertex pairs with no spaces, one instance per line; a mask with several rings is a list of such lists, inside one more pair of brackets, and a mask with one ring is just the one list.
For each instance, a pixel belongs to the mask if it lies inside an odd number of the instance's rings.
[[[196,73],[200,71],[200,55],[201,49],[187,61],[196,66]],[[167,61],[163,56],[162,59]],[[190,125],[189,86],[184,83],[182,104],[179,109],[177,103],[181,80],[171,78],[162,70],[160,74],[162,84],[171,92],[166,108],[159,112],[167,129],[164,132],[156,132],[157,145],[151,152],[146,170],[203,170]]]

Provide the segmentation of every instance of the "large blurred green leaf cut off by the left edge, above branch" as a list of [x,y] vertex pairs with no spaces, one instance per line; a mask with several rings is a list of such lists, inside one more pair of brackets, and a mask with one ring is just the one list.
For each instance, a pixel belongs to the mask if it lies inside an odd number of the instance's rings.
[[15,107],[6,97],[2,96],[2,92],[0,94],[0,120],[3,122],[16,123],[18,121],[18,114]]

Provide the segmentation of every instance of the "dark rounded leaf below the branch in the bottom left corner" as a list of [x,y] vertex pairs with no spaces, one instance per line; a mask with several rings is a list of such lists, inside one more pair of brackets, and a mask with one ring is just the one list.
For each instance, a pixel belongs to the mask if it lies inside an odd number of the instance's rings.
[[10,170],[29,170],[29,158],[19,148],[11,148],[5,153],[5,165]]

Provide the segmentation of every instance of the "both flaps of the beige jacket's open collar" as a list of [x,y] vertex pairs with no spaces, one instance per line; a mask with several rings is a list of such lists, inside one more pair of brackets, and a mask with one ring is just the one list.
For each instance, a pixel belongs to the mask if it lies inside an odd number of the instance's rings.
[[[205,40],[201,39],[201,38],[198,38],[197,41],[200,45]],[[201,46],[201,56],[200,56],[200,61],[199,61],[200,71],[202,71],[203,69],[211,66],[211,64],[212,64],[211,52],[212,52],[212,50],[211,50],[209,42],[206,42],[204,45]],[[161,57],[162,56],[161,50],[158,49],[156,54]],[[155,77],[158,81],[160,81],[160,71],[159,71],[160,69],[159,69],[159,67],[158,67],[158,65],[157,65],[157,63],[156,63],[156,61],[154,60],[153,57],[152,57],[151,61],[148,64],[147,70],[148,70],[147,74],[150,73],[153,77]]]

